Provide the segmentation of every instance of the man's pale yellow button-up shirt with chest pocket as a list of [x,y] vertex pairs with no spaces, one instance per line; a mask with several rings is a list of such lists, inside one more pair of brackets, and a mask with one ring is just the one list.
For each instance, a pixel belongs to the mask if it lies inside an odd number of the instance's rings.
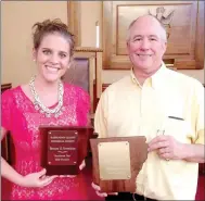
[[[94,129],[101,138],[145,136],[146,142],[165,130],[182,143],[204,145],[204,87],[164,63],[143,86],[131,71],[102,93]],[[156,200],[194,200],[197,171],[197,163],[166,161],[153,151],[137,176],[136,192]]]

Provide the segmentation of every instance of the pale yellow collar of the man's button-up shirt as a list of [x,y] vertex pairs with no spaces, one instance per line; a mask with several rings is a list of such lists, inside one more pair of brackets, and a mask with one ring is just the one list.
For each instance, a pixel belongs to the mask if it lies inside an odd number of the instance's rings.
[[[151,77],[149,77],[145,81],[148,84],[150,84],[150,86],[154,89],[156,89],[157,87],[162,86],[165,79],[165,74],[166,74],[166,65],[164,62],[162,62],[161,68]],[[142,87],[140,85],[140,83],[138,81],[138,79],[136,78],[136,75],[133,74],[133,68],[131,68],[130,71],[130,76],[131,76],[131,80],[137,84],[139,87]]]

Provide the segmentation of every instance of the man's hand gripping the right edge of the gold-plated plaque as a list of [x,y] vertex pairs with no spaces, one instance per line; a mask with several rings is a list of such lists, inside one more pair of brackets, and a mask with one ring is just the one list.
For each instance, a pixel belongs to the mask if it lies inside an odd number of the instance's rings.
[[177,141],[172,136],[161,135],[150,141],[149,152],[155,150],[165,160],[183,160],[183,147],[184,145]]

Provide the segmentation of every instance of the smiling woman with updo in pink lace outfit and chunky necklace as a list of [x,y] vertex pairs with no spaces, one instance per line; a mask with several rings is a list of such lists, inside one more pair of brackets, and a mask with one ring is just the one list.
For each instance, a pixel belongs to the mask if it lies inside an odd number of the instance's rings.
[[1,158],[1,174],[12,183],[12,200],[86,200],[81,175],[46,176],[40,166],[40,125],[88,124],[88,93],[61,81],[71,65],[73,35],[59,20],[36,23],[34,29],[38,74],[1,97],[2,138],[10,130],[15,146],[15,164]]

